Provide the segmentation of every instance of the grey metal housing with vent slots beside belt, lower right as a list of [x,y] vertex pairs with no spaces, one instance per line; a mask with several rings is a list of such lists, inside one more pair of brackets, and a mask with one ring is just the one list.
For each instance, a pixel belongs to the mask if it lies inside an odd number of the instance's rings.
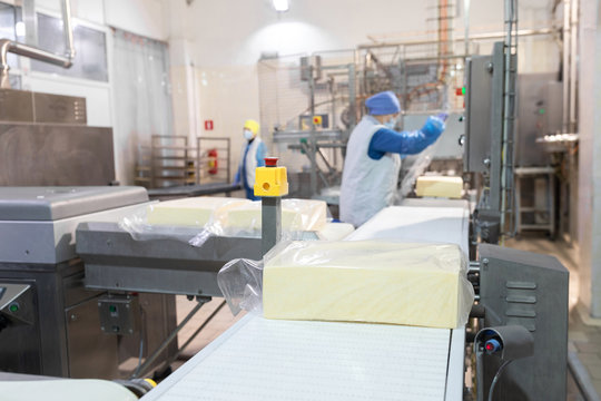
[[[520,325],[534,338],[534,354],[512,362],[496,400],[565,400],[568,270],[554,257],[480,244],[480,304],[484,327]],[[484,356],[484,393],[501,361]]]

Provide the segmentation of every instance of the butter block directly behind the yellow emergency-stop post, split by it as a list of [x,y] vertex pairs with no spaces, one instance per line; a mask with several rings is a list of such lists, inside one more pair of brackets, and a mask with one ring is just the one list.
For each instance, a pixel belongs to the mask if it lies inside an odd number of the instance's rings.
[[[236,205],[227,209],[227,226],[260,229],[260,200]],[[327,223],[327,205],[324,200],[282,199],[282,229],[319,231]]]

